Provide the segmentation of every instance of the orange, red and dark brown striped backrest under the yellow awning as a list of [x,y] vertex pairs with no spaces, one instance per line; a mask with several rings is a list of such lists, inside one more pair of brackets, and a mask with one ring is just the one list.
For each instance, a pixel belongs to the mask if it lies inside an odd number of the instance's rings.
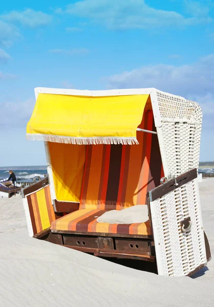
[[[155,130],[153,112],[139,126]],[[160,184],[157,135],[137,131],[139,145],[89,145],[79,209],[121,210],[147,203],[147,191]]]

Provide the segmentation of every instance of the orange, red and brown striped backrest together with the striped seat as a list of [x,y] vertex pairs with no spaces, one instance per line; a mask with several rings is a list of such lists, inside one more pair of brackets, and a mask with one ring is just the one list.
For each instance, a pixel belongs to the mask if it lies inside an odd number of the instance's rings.
[[[145,110],[140,128],[155,130],[153,112]],[[157,135],[137,131],[139,145],[88,145],[79,210],[54,221],[52,230],[151,235],[149,222],[98,223],[108,210],[147,203],[147,191],[163,176]]]

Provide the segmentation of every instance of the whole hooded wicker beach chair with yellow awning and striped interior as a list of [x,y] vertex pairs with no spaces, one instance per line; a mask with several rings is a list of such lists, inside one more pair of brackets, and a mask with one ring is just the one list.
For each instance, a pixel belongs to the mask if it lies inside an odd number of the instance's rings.
[[[99,257],[156,262],[160,275],[206,266],[200,106],[156,89],[35,93],[27,139],[45,142],[49,176],[22,191],[29,235]],[[131,208],[147,214],[102,220]]]

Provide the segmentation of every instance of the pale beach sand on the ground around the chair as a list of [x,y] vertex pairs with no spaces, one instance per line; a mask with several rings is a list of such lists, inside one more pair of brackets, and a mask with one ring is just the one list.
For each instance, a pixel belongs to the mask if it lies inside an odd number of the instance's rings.
[[[212,254],[213,187],[214,179],[200,183]],[[30,238],[20,196],[0,199],[0,207],[1,306],[214,305],[213,260],[193,278],[158,276]]]

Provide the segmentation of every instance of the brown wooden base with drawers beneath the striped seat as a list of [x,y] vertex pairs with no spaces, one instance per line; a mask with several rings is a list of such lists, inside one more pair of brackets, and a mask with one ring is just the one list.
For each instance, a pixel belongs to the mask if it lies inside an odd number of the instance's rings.
[[122,235],[110,233],[51,232],[50,228],[33,236],[50,243],[69,247],[98,257],[138,259],[155,262],[155,246],[152,236]]

